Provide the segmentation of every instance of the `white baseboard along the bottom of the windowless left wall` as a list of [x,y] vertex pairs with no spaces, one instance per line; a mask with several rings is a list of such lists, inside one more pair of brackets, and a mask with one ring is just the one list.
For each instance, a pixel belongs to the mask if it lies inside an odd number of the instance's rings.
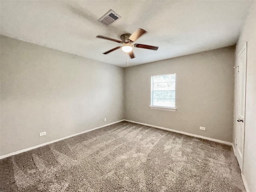
[[89,130],[86,130],[86,131],[83,131],[83,132],[80,132],[80,133],[76,133],[76,134],[73,134],[73,135],[70,135],[70,136],[66,136],[64,138],[56,139],[56,140],[46,142],[46,143],[43,143],[43,144],[40,144],[40,145],[36,145],[36,146],[33,146],[33,147],[29,147],[29,148],[26,148],[26,149],[22,149],[22,150],[19,150],[19,151],[16,151],[16,152],[9,153],[9,154],[6,154],[6,155],[2,155],[2,156],[0,156],[0,159],[6,158],[6,157],[9,157],[9,156],[12,156],[12,155],[16,155],[16,154],[19,154],[19,153],[22,153],[22,152],[26,152],[26,151],[29,151],[29,150],[32,150],[32,149],[35,149],[35,148],[38,148],[38,147],[42,147],[42,146],[45,146],[45,145],[48,145],[48,144],[51,144],[51,143],[54,143],[54,142],[57,142],[57,141],[60,141],[60,140],[64,140],[64,139],[67,139],[67,138],[70,138],[70,137],[74,137],[76,135],[80,135],[80,134],[83,134],[83,133],[86,133],[86,132],[90,132],[90,131],[93,131],[93,130],[96,130],[96,129],[99,129],[99,128],[102,128],[102,127],[106,127],[106,126],[109,126],[109,125],[112,125],[112,124],[115,124],[115,123],[118,123],[118,122],[121,122],[121,121],[124,121],[124,119],[116,121],[116,122],[112,122],[112,123],[109,123],[109,124],[106,124],[106,125],[103,125],[103,126],[99,126],[99,127],[93,128],[93,129],[89,129]]

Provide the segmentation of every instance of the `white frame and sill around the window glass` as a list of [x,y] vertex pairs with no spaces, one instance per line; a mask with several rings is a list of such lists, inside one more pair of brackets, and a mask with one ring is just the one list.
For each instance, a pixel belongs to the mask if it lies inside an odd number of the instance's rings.
[[[154,94],[154,89],[153,89],[153,77],[154,76],[163,76],[163,75],[173,75],[175,74],[175,98],[174,98],[174,107],[166,107],[166,106],[155,106],[153,104],[153,94]],[[151,92],[150,92],[150,109],[157,109],[157,110],[165,110],[165,111],[176,111],[176,73],[169,73],[169,74],[160,74],[160,75],[152,75],[150,77],[150,85],[151,85]]]

